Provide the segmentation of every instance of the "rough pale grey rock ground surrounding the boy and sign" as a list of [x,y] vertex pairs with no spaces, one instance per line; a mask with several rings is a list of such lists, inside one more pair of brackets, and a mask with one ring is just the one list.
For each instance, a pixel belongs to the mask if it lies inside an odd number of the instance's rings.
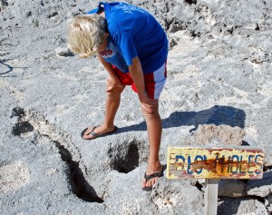
[[[250,194],[220,198],[219,214],[271,212],[272,2],[126,2],[155,15],[170,40],[162,163],[169,145],[201,144],[202,132],[208,142],[262,147],[270,178],[243,181]],[[198,181],[162,178],[141,191],[148,143],[131,89],[121,97],[118,132],[81,139],[102,122],[107,73],[95,57],[69,53],[66,21],[97,4],[0,0],[0,214],[203,214]],[[229,131],[235,142],[222,139]]]

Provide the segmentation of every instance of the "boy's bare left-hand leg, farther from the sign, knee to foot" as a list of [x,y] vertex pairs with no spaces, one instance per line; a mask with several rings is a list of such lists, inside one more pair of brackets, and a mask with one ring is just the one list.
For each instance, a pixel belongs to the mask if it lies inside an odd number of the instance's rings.
[[[93,130],[93,127],[88,128],[88,130],[85,133],[92,132],[103,134],[106,132],[112,132],[114,130],[114,117],[116,115],[116,112],[119,108],[120,101],[121,101],[121,92],[125,88],[125,85],[119,85],[117,87],[112,87],[112,85],[108,82],[107,87],[107,96],[106,96],[106,105],[105,105],[105,117],[102,125],[96,127]],[[92,134],[84,135],[84,139],[92,139],[94,136]]]

